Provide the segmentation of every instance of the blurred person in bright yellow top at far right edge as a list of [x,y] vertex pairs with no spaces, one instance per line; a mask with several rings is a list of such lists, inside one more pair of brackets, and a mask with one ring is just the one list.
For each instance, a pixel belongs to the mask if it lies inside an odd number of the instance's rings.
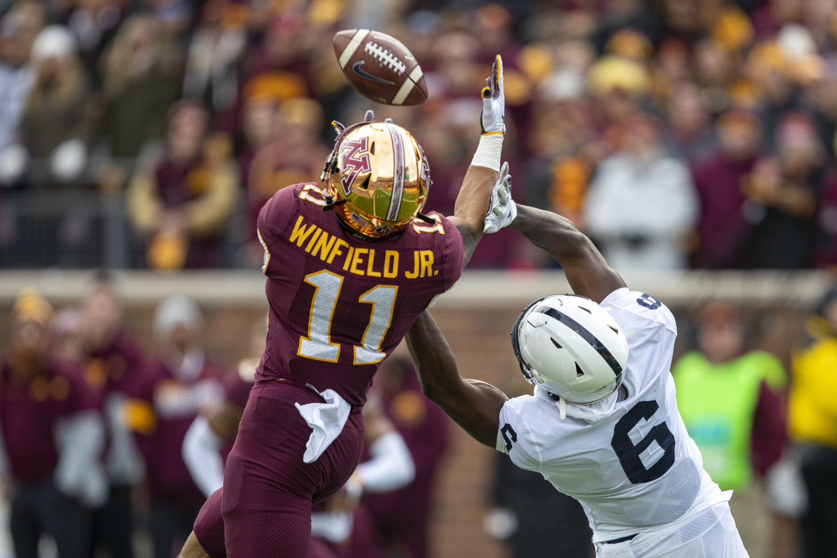
[[808,496],[803,558],[837,556],[837,289],[806,324],[808,343],[793,355],[788,434]]

